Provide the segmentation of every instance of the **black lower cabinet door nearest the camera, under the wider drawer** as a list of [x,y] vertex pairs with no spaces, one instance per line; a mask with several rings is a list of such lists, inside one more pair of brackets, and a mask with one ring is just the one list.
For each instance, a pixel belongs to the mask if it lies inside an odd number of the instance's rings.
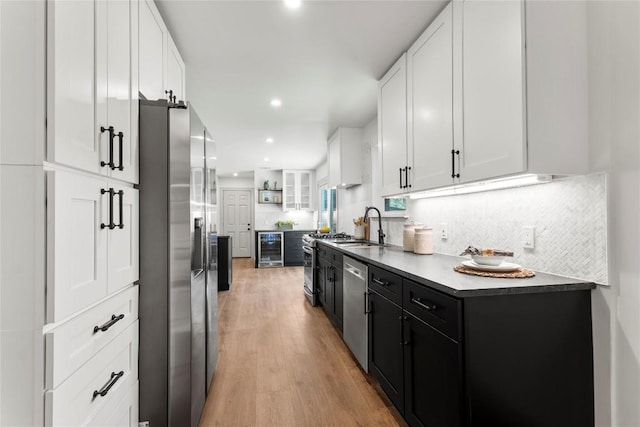
[[405,312],[404,418],[410,426],[462,425],[460,345]]

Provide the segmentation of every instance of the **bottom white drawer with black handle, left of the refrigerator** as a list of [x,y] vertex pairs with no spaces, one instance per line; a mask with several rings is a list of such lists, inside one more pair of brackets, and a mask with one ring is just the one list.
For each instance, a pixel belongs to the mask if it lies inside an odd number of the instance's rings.
[[137,380],[138,321],[60,386],[45,393],[45,425],[87,425],[105,406],[119,401]]

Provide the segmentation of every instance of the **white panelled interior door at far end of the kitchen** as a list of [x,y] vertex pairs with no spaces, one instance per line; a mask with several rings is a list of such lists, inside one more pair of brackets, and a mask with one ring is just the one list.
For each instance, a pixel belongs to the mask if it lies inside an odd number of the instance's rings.
[[252,190],[224,190],[222,196],[223,234],[231,236],[234,258],[251,256]]

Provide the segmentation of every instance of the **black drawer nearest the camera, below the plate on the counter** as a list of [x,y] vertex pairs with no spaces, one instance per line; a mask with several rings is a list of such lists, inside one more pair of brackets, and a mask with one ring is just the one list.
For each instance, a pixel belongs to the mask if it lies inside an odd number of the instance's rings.
[[403,308],[443,334],[458,341],[461,316],[460,300],[424,285],[404,281]]

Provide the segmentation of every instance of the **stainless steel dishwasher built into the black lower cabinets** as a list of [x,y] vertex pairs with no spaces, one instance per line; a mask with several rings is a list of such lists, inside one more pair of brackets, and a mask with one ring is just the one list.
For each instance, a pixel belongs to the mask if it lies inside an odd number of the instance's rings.
[[353,258],[343,258],[342,337],[360,366],[369,372],[367,354],[367,266]]

